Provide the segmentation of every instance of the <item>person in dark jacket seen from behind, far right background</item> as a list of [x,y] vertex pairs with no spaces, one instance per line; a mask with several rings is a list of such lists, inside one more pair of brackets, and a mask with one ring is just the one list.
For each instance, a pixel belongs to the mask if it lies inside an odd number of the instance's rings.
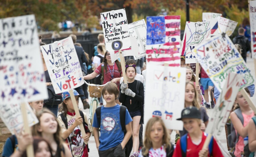
[[244,36],[244,28],[240,27],[238,29],[238,36],[233,38],[233,43],[241,45],[241,56],[246,63],[246,53],[251,50],[251,46],[248,38]]

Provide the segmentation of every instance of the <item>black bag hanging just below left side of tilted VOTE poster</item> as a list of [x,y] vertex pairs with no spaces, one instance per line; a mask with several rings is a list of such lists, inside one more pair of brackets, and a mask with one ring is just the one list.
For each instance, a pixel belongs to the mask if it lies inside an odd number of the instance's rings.
[[57,106],[62,103],[61,94],[55,94],[54,88],[52,85],[47,86],[48,99],[44,100],[44,104],[47,106]]

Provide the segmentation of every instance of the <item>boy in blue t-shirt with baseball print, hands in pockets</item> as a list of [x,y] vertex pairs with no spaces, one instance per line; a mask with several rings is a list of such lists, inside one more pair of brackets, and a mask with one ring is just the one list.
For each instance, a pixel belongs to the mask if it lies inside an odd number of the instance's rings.
[[[106,105],[101,107],[100,124],[95,113],[93,119],[93,133],[99,156],[120,156],[125,157],[124,147],[131,138],[131,116],[126,109],[125,129],[126,134],[120,123],[120,105],[115,103],[119,95],[118,87],[114,83],[108,83],[102,89],[102,96],[106,100]],[[100,136],[99,136],[100,127]],[[99,143],[100,141],[100,143]]]

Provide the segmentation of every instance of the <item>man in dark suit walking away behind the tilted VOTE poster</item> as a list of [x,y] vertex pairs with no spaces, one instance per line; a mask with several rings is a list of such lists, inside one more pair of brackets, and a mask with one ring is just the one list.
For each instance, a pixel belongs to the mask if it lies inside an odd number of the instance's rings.
[[[76,35],[70,34],[69,36],[72,37],[73,43],[76,43],[76,42],[77,42],[77,36],[76,36]],[[83,76],[85,76],[87,70],[85,69],[83,63],[86,63],[86,62],[87,62],[87,59],[86,59],[86,56],[85,56],[85,54],[84,54],[84,50],[83,50],[83,48],[80,47],[80,46],[77,46],[77,45],[74,45],[74,46],[75,46],[75,49],[76,49],[76,52],[77,52],[77,56],[78,56],[78,59],[79,59],[79,63],[80,63],[82,72],[83,72]],[[84,95],[83,86],[82,86],[82,85],[81,85],[80,87],[75,88],[75,90],[76,90],[79,94]],[[85,96],[82,96],[82,97],[81,97],[81,101],[83,102],[83,108],[84,108],[84,109],[90,108],[90,105],[87,103]]]

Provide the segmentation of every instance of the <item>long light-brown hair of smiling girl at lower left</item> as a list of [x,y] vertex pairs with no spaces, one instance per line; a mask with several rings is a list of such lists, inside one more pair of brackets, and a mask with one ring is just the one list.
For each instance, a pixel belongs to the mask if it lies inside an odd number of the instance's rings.
[[[54,113],[52,113],[49,109],[43,108],[42,111],[36,112],[36,117],[38,118],[39,123],[33,125],[32,127],[32,135],[33,136],[41,136],[42,137],[42,132],[38,132],[38,127],[40,126],[40,118],[44,113],[49,113],[54,116],[55,121],[58,123],[57,118]],[[53,134],[54,140],[56,143],[59,145],[60,148],[63,148],[62,141],[63,139],[61,138],[61,127],[59,123],[57,124],[57,131],[56,133]]]

